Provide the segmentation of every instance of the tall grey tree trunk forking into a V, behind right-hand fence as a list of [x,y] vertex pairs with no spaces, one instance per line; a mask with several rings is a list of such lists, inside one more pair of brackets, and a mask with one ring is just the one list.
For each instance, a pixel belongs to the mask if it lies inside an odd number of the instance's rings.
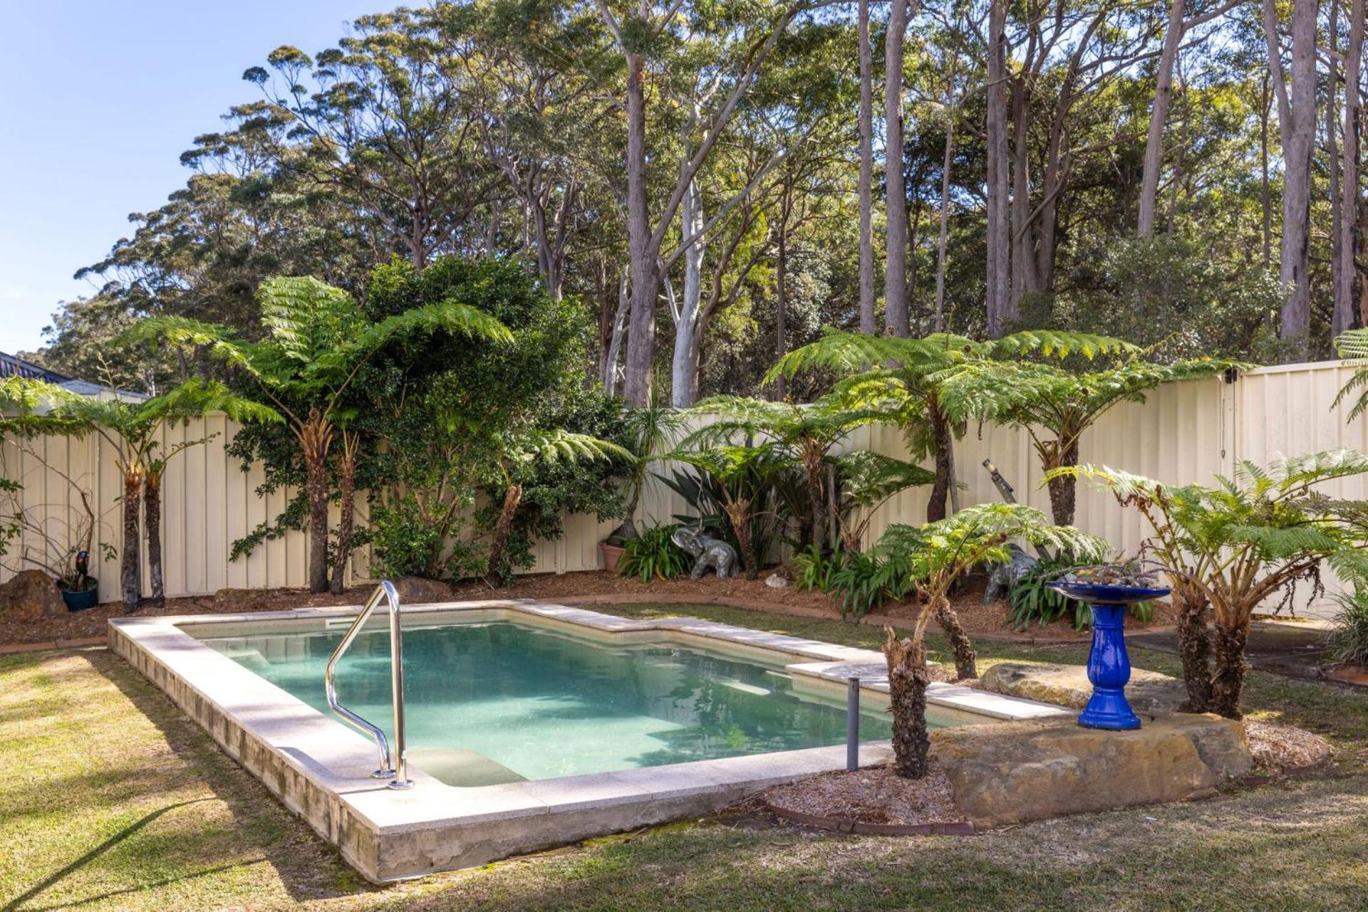
[[[1311,334],[1311,159],[1316,134],[1316,21],[1319,0],[1293,4],[1291,14],[1291,86],[1282,74],[1278,52],[1276,14],[1272,0],[1264,0],[1264,23],[1268,30],[1268,66],[1279,92],[1283,148],[1283,235],[1279,279],[1287,286],[1282,308],[1282,338],[1286,358],[1302,360]],[[1286,104],[1282,103],[1286,98]]]

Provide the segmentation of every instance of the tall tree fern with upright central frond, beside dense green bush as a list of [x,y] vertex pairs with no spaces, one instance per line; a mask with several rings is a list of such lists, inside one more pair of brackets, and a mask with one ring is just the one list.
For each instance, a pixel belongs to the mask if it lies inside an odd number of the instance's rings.
[[341,591],[354,517],[358,432],[347,394],[363,366],[389,342],[432,334],[464,336],[477,345],[512,339],[486,312],[443,301],[372,323],[342,289],[313,278],[276,278],[263,283],[260,342],[227,327],[185,317],[153,317],[134,332],[144,339],[202,351],[242,375],[290,429],[304,462],[309,503],[309,591],[328,580],[328,457],[342,438],[339,485],[343,492],[338,554],[331,588]]

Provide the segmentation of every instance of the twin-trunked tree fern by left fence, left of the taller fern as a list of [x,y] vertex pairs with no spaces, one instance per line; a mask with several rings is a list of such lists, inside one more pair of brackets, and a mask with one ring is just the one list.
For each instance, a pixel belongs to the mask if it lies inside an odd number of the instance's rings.
[[167,465],[190,447],[208,443],[216,433],[189,438],[170,446],[164,431],[186,425],[192,418],[222,413],[233,421],[279,421],[271,407],[234,394],[216,380],[186,380],[150,399],[114,395],[108,398],[68,397],[52,417],[70,423],[77,432],[98,435],[114,450],[114,465],[123,477],[123,541],[119,548],[119,588],[123,608],[135,610],[142,603],[141,529],[144,514],[148,537],[148,574],[152,585],[150,604],[166,602],[161,573],[161,480]]

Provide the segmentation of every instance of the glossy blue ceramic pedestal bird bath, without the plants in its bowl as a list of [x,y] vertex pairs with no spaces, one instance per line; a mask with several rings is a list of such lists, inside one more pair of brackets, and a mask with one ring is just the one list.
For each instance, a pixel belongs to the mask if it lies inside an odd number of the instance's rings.
[[1093,684],[1093,696],[1078,714],[1078,725],[1112,732],[1138,729],[1140,716],[1126,699],[1126,682],[1130,681],[1126,614],[1131,604],[1160,599],[1168,595],[1168,589],[1074,580],[1049,585],[1070,599],[1086,602],[1093,610],[1093,645],[1088,654],[1088,680]]

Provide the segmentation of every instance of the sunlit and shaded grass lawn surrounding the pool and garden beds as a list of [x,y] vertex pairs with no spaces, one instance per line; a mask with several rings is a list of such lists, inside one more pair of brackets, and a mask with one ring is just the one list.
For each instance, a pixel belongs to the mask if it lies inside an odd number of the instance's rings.
[[[607,608],[681,613],[679,606]],[[876,645],[836,621],[709,619]],[[1083,647],[979,644],[1003,659]],[[1135,665],[1175,671],[1170,656]],[[1368,696],[1253,673],[1246,706],[1330,737],[1324,778],[974,838],[837,837],[736,815],[376,889],[104,649],[0,658],[3,909],[1364,909]]]

